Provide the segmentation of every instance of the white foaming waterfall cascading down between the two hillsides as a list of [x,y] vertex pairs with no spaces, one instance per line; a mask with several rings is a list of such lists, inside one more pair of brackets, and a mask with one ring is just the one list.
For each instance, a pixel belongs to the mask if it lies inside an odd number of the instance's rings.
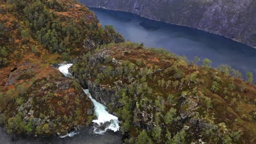
[[[73,64],[60,64],[59,70],[61,73],[63,73],[67,77],[71,77],[71,74],[68,72],[68,69]],[[113,130],[118,131],[119,130],[119,121],[118,117],[111,115],[106,110],[107,108],[102,105],[101,103],[98,103],[95,99],[91,97],[91,94],[89,92],[89,89],[84,89],[84,93],[88,95],[88,97],[91,99],[92,103],[94,104],[94,111],[97,119],[93,120],[93,123],[96,123],[94,126],[94,133],[96,134],[104,134],[107,130]],[[67,136],[74,136],[78,133],[69,133],[67,135],[61,136],[61,137],[67,137]]]

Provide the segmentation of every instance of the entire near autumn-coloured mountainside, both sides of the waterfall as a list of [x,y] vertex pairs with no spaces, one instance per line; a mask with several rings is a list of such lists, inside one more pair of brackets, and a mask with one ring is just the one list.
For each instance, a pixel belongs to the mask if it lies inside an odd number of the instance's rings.
[[[73,0],[0,6],[0,123],[8,133],[61,135],[90,123],[83,86],[120,118],[125,143],[255,143],[256,88],[238,71],[120,43]],[[63,61],[74,63],[77,80],[52,67]]]

